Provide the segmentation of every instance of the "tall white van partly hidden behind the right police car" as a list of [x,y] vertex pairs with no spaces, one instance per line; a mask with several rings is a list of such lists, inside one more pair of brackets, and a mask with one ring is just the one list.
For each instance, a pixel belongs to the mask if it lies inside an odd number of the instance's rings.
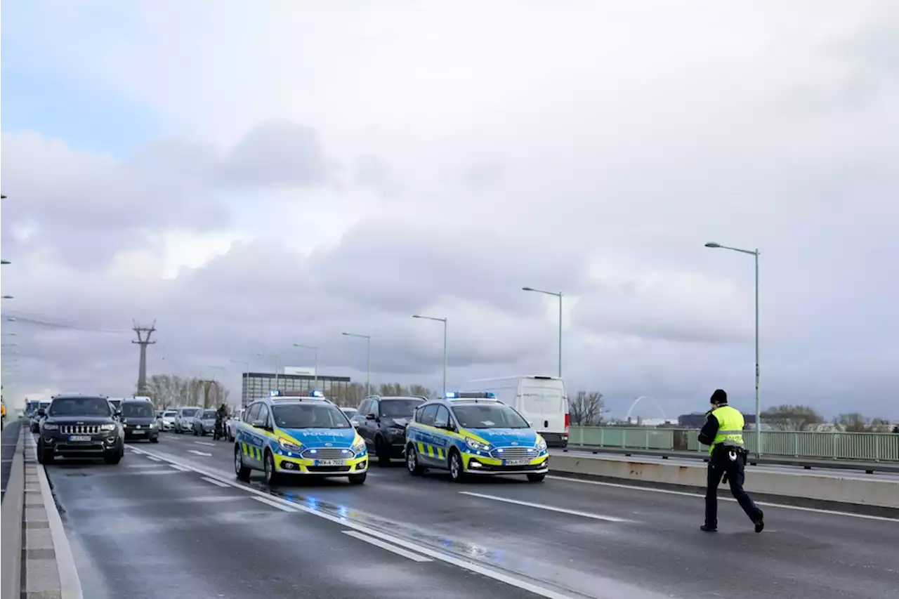
[[469,380],[459,391],[492,391],[497,399],[518,411],[543,436],[547,445],[567,447],[568,396],[565,381],[539,375]]

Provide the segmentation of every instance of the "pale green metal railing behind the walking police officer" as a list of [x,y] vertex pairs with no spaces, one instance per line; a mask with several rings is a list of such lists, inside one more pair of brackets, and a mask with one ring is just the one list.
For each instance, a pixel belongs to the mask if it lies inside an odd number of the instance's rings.
[[[569,446],[609,447],[654,451],[708,451],[698,439],[699,431],[645,426],[572,426]],[[743,434],[743,443],[757,452],[755,434]],[[899,434],[895,433],[797,433],[762,431],[761,455],[899,462]]]

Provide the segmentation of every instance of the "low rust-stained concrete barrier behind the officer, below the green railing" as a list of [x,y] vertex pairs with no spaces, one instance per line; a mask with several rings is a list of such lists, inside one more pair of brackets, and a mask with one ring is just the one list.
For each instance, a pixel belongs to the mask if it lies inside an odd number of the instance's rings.
[[[555,474],[583,478],[612,478],[634,481],[642,485],[704,489],[705,464],[660,464],[638,460],[604,460],[602,458],[553,455],[550,469]],[[805,500],[823,506],[847,505],[899,510],[899,482],[840,475],[797,475],[768,471],[746,472],[745,489],[766,499]],[[721,496],[729,496],[726,486]],[[785,501],[784,503],[796,503]],[[870,511],[870,510],[866,510]],[[891,514],[893,515],[893,514]]]

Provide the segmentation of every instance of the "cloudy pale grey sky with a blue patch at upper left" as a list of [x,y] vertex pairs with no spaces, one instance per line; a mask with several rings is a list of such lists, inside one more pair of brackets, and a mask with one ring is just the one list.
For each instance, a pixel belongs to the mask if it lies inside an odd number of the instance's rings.
[[[899,418],[887,2],[0,4],[21,398],[309,366]],[[891,205],[892,204],[892,205]],[[0,353],[9,353],[2,347]],[[4,360],[6,364],[11,364]],[[221,376],[221,372],[218,372]],[[646,402],[637,410],[659,416]]]

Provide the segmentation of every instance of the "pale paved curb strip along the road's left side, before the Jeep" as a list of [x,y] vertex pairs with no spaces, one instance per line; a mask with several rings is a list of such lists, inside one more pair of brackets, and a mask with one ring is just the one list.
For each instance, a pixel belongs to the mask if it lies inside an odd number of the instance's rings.
[[24,434],[21,599],[82,599],[81,581],[37,444]]

